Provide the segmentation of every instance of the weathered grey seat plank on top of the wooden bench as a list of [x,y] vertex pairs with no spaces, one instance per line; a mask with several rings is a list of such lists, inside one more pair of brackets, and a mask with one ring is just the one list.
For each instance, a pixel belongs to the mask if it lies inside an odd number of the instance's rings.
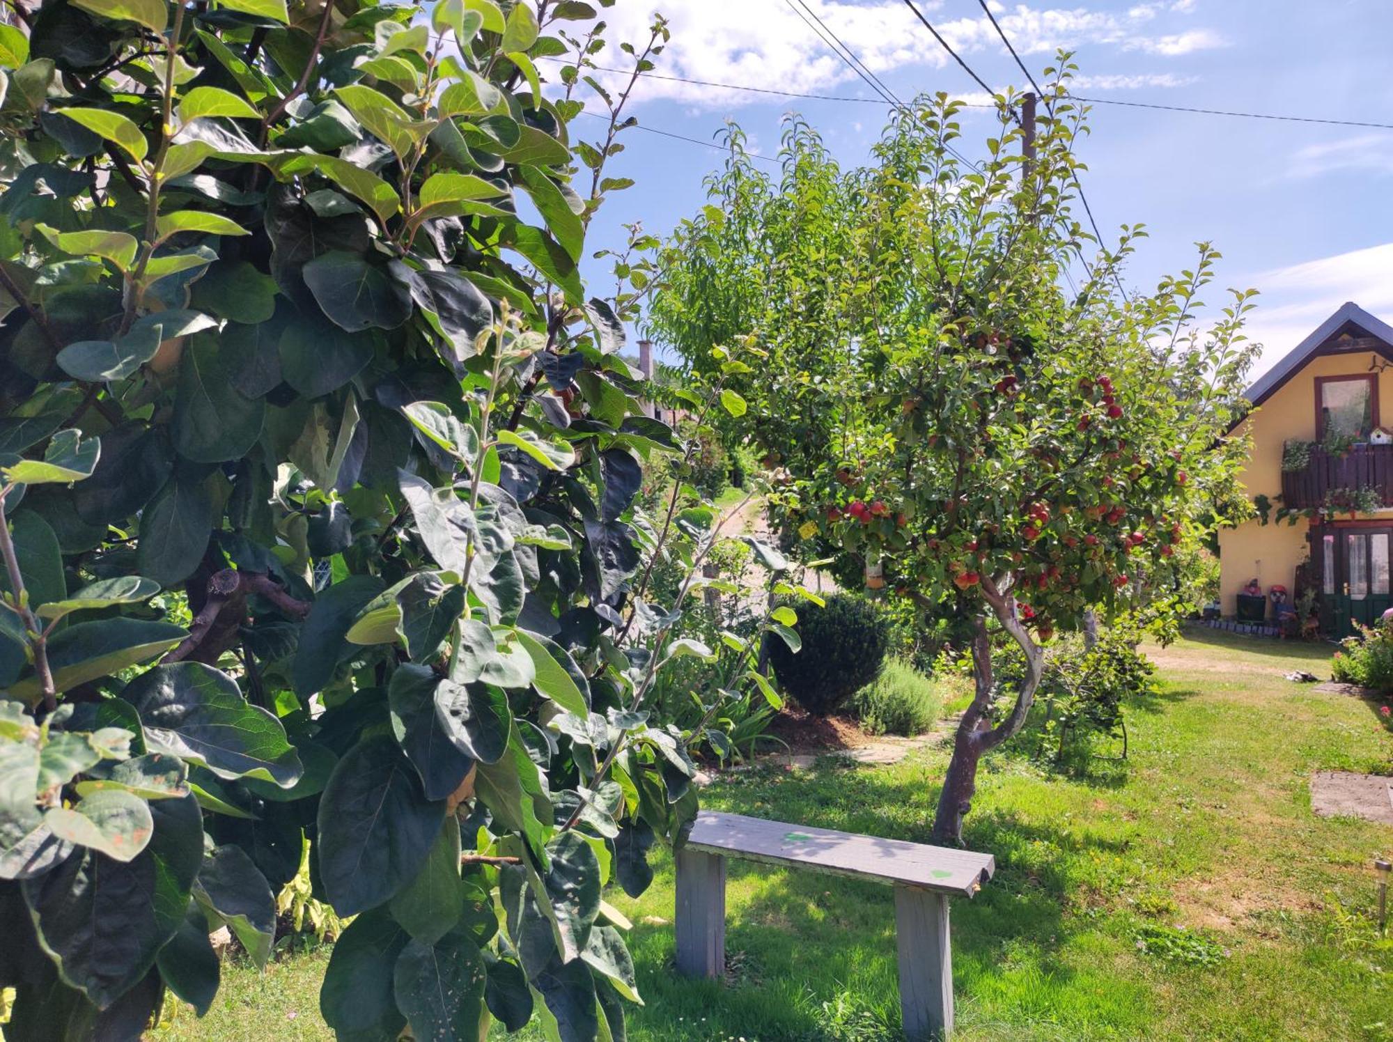
[[719,811],[696,815],[687,848],[963,897],[975,894],[996,871],[990,854]]

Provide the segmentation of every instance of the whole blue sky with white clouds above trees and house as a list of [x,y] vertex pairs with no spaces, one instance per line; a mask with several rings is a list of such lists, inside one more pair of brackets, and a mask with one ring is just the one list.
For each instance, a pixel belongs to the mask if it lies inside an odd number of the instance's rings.
[[[981,89],[914,20],[903,0],[808,0],[823,21],[900,98]],[[921,10],[993,89],[1022,77],[976,0],[918,0]],[[1393,11],[1380,0],[1084,0],[1075,6],[993,3],[1025,63],[1039,75],[1056,47],[1075,52],[1089,98],[1393,124]],[[662,11],[673,31],[657,72],[786,91],[871,98],[869,88],[795,18],[788,0],[617,0],[609,39],[646,38]],[[610,46],[599,64],[624,56]],[[974,93],[975,92],[975,93]],[[865,159],[885,107],[779,99],[644,79],[631,114],[646,127],[710,139],[733,120],[755,150],[777,150],[788,111],[818,127],[839,160]],[[589,106],[595,109],[596,106]],[[964,152],[981,155],[986,116],[964,120]],[[577,131],[591,120],[579,120]],[[596,128],[602,124],[593,121]],[[1353,300],[1393,319],[1393,131],[1110,104],[1094,107],[1080,152],[1085,188],[1105,234],[1142,221],[1151,231],[1127,276],[1148,286],[1188,266],[1192,242],[1224,255],[1222,287],[1262,290],[1251,333],[1275,362],[1332,311]],[[621,224],[666,233],[703,201],[715,149],[641,130],[607,176],[637,185],[596,215],[591,245],[621,241]],[[589,265],[603,291],[606,269]]]

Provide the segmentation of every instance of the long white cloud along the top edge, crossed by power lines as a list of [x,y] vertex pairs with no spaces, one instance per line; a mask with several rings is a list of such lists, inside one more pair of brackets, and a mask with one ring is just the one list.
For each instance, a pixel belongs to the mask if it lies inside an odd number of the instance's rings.
[[[1094,0],[1098,3],[1098,0]],[[1184,3],[1184,0],[1180,0]],[[837,93],[873,99],[875,92],[832,53],[830,46],[795,13],[794,4],[779,0],[627,0],[606,11],[612,46],[596,61],[600,65],[627,64],[617,50],[620,40],[648,39],[652,10],[662,10],[671,28],[671,43],[657,59],[657,72],[715,84],[763,86],[794,93]],[[925,89],[963,88],[961,70],[939,47],[914,13],[901,0],[807,0],[826,28],[876,75],[900,68],[933,68],[943,75],[925,77]],[[935,28],[964,57],[1002,53],[996,29],[982,17],[943,18],[940,3],[921,3]],[[1010,8],[993,3],[997,21],[1022,56],[1053,56],[1060,47],[1109,46],[1160,57],[1187,54],[1220,46],[1209,29],[1166,32],[1172,4],[1141,3],[1127,11],[1087,7]],[[815,22],[814,22],[815,25]],[[1039,65],[1039,61],[1032,63]],[[613,77],[606,77],[614,82]],[[1138,84],[1142,85],[1142,84]],[[1151,86],[1169,84],[1153,82]],[[993,89],[1006,82],[992,84]],[[1107,89],[1107,88],[1103,88]],[[651,77],[634,93],[635,102],[676,99],[703,109],[733,109],[761,100],[761,95],[720,86],[676,82]],[[766,103],[777,102],[766,96]]]

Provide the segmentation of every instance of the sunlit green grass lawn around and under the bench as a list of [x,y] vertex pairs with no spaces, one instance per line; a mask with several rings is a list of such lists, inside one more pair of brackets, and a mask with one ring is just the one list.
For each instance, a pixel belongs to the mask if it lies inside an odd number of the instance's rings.
[[[1393,830],[1309,811],[1312,770],[1390,773],[1375,706],[1290,683],[1325,674],[1325,646],[1204,631],[1153,649],[1162,691],[1128,706],[1126,770],[1052,775],[1020,752],[986,761],[967,843],[996,879],[953,905],[960,1039],[1393,1039],[1393,946],[1368,926],[1371,860]],[[924,840],[946,752],[889,768],[762,769],[703,805]],[[673,873],[634,919],[646,1006],[641,1042],[894,1039],[889,889],[738,862],[730,869],[729,982],[673,975]],[[1183,929],[1181,929],[1183,928]],[[265,975],[224,968],[198,1021],[162,1039],[322,1039],[327,954]],[[540,1035],[524,1035],[540,1038]]]

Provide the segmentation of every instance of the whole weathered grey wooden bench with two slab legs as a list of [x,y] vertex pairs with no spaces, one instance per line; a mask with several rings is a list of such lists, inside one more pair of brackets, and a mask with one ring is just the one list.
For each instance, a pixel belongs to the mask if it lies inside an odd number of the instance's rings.
[[677,970],[687,977],[726,974],[727,857],[894,886],[904,1034],[919,1042],[953,1031],[949,897],[971,897],[992,878],[990,854],[702,811],[677,851]]

